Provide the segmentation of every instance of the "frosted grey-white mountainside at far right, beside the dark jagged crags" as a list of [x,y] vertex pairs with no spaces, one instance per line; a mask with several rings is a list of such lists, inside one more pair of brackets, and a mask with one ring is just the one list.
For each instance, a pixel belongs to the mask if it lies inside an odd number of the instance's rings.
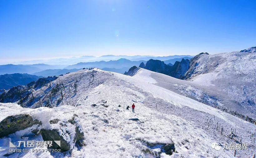
[[[256,118],[256,53],[255,47],[209,55],[199,54],[191,59],[185,79],[192,83],[212,86],[216,92],[227,96],[230,110]],[[223,100],[223,98],[219,98]],[[227,100],[225,99],[225,102]]]

